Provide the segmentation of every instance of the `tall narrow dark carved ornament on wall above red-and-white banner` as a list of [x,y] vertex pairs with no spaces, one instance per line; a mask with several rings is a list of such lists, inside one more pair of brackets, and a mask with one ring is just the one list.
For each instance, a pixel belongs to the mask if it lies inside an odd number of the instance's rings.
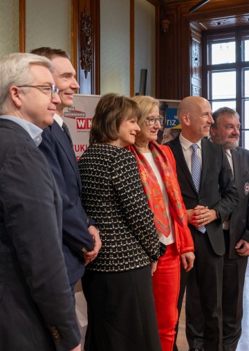
[[93,64],[93,28],[91,17],[87,13],[85,6],[80,15],[80,66],[84,70],[85,78],[91,71]]

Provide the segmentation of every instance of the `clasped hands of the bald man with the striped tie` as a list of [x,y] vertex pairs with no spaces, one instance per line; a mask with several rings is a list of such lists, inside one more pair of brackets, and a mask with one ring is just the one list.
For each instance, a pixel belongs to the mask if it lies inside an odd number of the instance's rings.
[[191,210],[187,210],[187,222],[196,228],[205,226],[216,219],[216,211],[210,210],[208,206],[197,205]]

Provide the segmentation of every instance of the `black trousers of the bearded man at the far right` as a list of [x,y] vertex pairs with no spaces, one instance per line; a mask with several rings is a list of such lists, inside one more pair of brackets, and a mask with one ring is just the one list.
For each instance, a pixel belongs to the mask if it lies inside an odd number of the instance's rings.
[[[223,265],[223,351],[235,351],[241,336],[243,316],[243,285],[248,258],[229,259],[224,255]],[[204,317],[200,304],[195,272],[186,288],[186,336],[190,348],[203,349]]]

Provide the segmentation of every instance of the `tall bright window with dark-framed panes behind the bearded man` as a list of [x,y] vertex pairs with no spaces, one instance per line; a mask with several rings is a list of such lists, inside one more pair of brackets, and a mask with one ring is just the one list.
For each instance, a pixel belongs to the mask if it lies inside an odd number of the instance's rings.
[[228,106],[241,120],[240,145],[249,150],[249,29],[203,33],[203,96],[212,110]]

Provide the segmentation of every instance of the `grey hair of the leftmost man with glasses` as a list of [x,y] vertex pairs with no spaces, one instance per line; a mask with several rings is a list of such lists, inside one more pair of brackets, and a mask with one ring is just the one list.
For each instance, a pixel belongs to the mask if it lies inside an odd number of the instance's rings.
[[33,75],[30,66],[37,64],[44,66],[52,73],[53,64],[46,57],[30,53],[11,53],[0,60],[0,114],[6,114],[9,90],[13,85],[30,85]]

